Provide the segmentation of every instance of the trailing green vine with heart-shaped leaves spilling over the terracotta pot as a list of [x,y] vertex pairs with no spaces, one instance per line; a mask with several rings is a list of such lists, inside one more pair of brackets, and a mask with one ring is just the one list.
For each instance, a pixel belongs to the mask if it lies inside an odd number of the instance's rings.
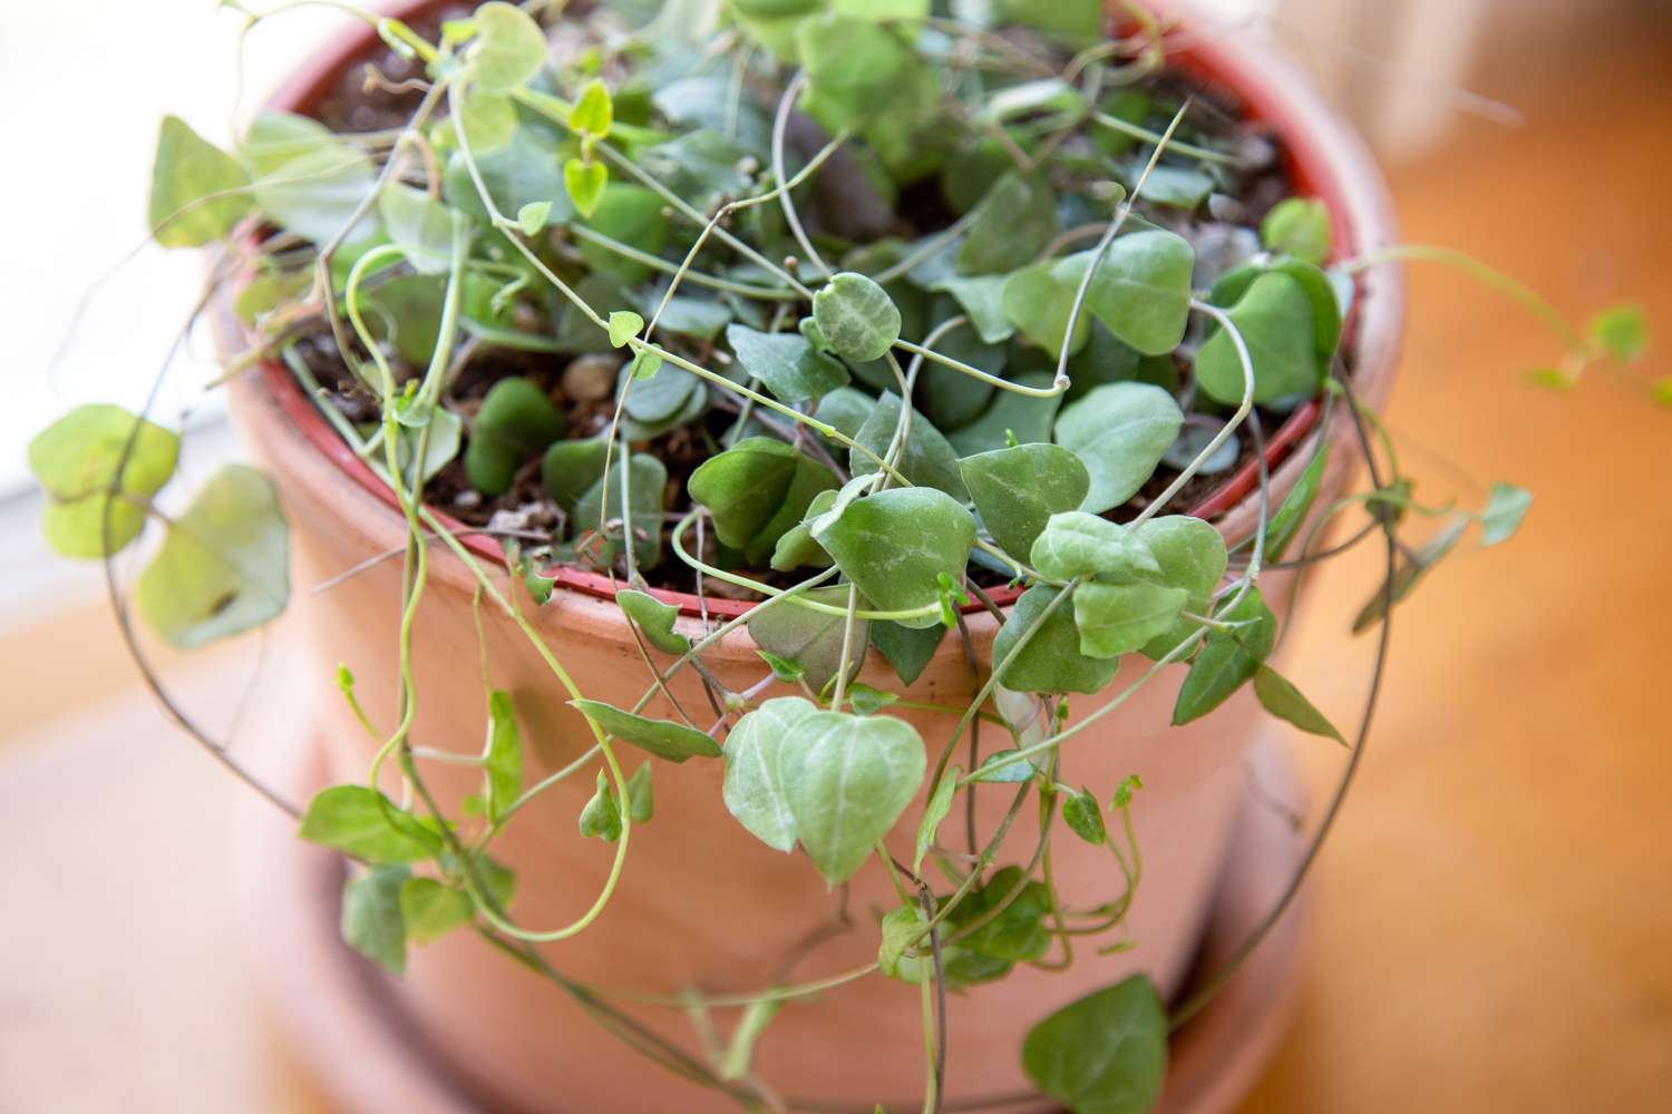
[[[339,5],[224,7],[254,27]],[[283,361],[395,493],[408,533],[390,554],[405,570],[398,705],[361,708],[339,675],[378,743],[366,780],[306,808],[257,788],[304,838],[358,860],[343,930],[364,954],[398,972],[408,942],[468,927],[652,1061],[744,1106],[779,1102],[747,1064],[782,1002],[866,977],[916,984],[935,1111],[948,990],[1052,949],[1072,959],[1075,942],[1130,944],[1142,783],[1063,783],[1075,735],[1185,670],[1174,723],[1252,685],[1272,715],[1344,743],[1267,663],[1281,625],[1262,573],[1379,538],[1386,576],[1356,630],[1379,628],[1384,653],[1388,611],[1470,526],[1490,546],[1525,514],[1530,496],[1510,484],[1480,509],[1415,498],[1343,354],[1356,277],[1399,261],[1466,267],[1553,324],[1563,357],[1542,379],[1562,384],[1597,357],[1634,359],[1644,322],[1620,307],[1573,327],[1438,249],[1333,257],[1323,204],[1289,195],[1274,144],[1169,72],[1167,28],[1139,5],[1115,37],[1093,0],[950,13],[928,0],[570,7],[485,3],[425,33],[364,15],[391,52],[368,104],[398,110],[395,124],[346,132],[264,114],[231,152],[177,119],[162,125],[152,235],[221,247],[204,306],[236,299],[252,337],[227,374]],[[560,45],[537,17],[562,23]],[[1321,406],[1319,431],[1351,416],[1368,488],[1301,536],[1331,446],[1314,436],[1299,483],[1272,504],[1262,421],[1306,404]],[[161,534],[130,600],[157,636],[194,648],[284,608],[288,531],[271,481],[244,466],[166,516],[157,496],[177,453],[177,434],[149,418],[85,406],[42,433],[30,461],[65,554],[109,568],[147,524]],[[1227,544],[1169,513],[1249,459],[1249,536]],[[1341,519],[1358,521],[1319,548]],[[1438,529],[1406,541],[1423,521]],[[508,588],[466,531],[503,541],[518,573]],[[461,815],[425,782],[430,762],[458,757],[410,735],[411,630],[435,546],[537,646],[594,737],[528,785],[517,708],[492,691],[487,747],[468,760],[482,793]],[[553,590],[547,570],[565,565],[617,585],[647,665],[632,706],[589,698],[527,618]],[[129,596],[114,573],[110,585],[125,625]],[[1007,611],[998,586],[1025,591]],[[652,588],[752,606],[692,640]],[[971,656],[968,703],[941,708],[945,730],[925,738],[890,713],[901,695],[858,683],[856,666],[874,646],[910,686],[971,600],[1002,631],[990,660]],[[742,626],[762,648],[761,678],[731,691],[704,653]],[[1150,666],[1114,688],[1130,655]],[[652,711],[686,670],[704,678],[712,723]],[[1070,693],[1095,708],[1073,723]],[[1013,743],[965,757],[983,722]],[[629,775],[632,750],[649,760]],[[672,999],[742,1010],[721,1062],[649,1032],[533,947],[592,925],[632,868],[630,833],[652,822],[655,765],[687,760],[724,762],[716,808],[777,850],[799,847],[831,887],[874,868],[898,892],[859,970]],[[388,763],[401,802],[376,788]],[[495,838],[552,785],[594,775],[577,838],[614,843],[609,882],[572,924],[523,925]],[[953,853],[941,822],[981,787],[1010,795],[1007,820]],[[920,797],[916,855],[898,862],[881,838]],[[1007,833],[1030,802],[1045,835],[1017,855]],[[1107,847],[1124,892],[1067,907],[1053,838]],[[1020,1049],[1033,1086],[1077,1111],[1154,1104],[1169,1029],[1259,944],[1301,877],[1304,865],[1229,969],[1170,1014],[1135,975],[1043,1019]]]

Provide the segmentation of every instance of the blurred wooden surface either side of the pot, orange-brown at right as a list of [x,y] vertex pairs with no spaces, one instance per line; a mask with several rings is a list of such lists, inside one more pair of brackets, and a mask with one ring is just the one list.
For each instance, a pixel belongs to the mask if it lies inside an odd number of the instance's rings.
[[[1660,374],[1669,55],[1600,58],[1527,99],[1527,129],[1468,127],[1396,175],[1411,241],[1573,312],[1635,294]],[[1373,752],[1313,887],[1301,1009],[1247,1111],[1667,1109],[1672,411],[1605,374],[1522,386],[1553,352],[1532,321],[1456,276],[1413,281],[1389,423],[1418,493],[1511,479],[1537,503],[1513,546],[1458,554],[1396,611]],[[1323,575],[1292,648],[1338,720],[1359,703],[1369,645],[1344,631],[1374,573],[1366,549]],[[241,972],[232,790],[119,683],[110,645],[97,616],[0,638],[0,1112],[324,1111]],[[189,683],[214,698],[206,676]],[[1341,755],[1302,752],[1316,812]]]

